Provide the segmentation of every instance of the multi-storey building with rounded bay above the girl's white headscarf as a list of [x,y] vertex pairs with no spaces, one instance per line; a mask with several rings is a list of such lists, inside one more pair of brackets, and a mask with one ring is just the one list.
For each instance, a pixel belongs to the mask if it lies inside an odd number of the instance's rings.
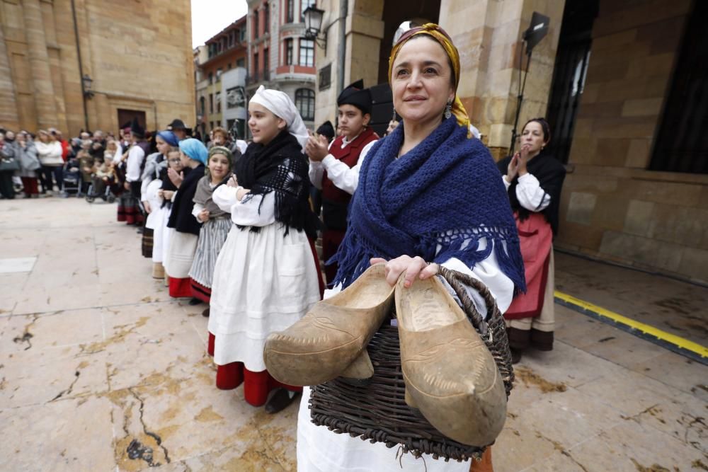
[[249,0],[246,93],[258,86],[287,93],[305,125],[314,128],[315,45],[306,40],[302,11],[314,0]]

